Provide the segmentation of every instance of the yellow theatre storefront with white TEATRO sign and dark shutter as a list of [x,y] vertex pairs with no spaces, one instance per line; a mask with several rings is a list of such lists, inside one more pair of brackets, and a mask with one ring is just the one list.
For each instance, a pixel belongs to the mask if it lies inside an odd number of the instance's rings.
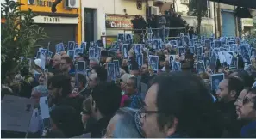
[[50,42],[50,51],[55,51],[55,45],[63,42],[67,45],[68,41],[81,43],[81,18],[80,18],[80,0],[74,0],[76,6],[65,6],[66,0],[57,5],[57,12],[52,13],[51,7],[55,0],[20,0],[24,4],[22,11],[28,11],[28,8],[38,16],[34,17],[34,23],[44,27],[48,38],[41,40],[36,45],[47,47]]

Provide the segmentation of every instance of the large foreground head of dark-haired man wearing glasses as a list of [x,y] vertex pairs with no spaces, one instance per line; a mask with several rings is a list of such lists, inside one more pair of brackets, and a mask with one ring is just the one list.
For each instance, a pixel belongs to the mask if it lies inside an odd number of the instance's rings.
[[220,137],[212,97],[188,72],[156,76],[136,118],[147,138]]

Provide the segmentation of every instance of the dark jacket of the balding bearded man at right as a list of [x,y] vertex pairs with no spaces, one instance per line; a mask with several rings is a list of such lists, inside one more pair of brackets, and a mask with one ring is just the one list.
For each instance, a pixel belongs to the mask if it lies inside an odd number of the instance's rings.
[[234,106],[235,100],[228,103],[218,103],[218,110],[222,114],[222,137],[239,138],[242,127],[241,121],[237,120],[237,114]]

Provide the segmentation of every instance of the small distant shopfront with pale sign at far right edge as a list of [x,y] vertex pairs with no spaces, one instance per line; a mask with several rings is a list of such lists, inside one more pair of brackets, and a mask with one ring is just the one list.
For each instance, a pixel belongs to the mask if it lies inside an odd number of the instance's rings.
[[253,19],[252,18],[241,19],[241,27],[242,27],[243,35],[251,34],[254,29],[253,28]]

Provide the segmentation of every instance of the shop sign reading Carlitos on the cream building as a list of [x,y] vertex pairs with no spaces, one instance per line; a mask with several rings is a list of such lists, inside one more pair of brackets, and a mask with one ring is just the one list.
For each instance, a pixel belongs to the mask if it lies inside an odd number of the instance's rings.
[[106,15],[106,28],[133,28],[133,15]]

